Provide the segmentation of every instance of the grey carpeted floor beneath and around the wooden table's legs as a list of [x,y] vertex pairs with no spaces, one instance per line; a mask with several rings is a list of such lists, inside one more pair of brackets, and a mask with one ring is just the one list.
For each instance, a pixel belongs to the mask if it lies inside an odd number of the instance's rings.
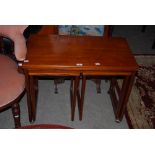
[[[54,93],[53,80],[39,81],[39,98],[35,124],[61,124],[76,129],[127,129],[124,118],[121,123],[115,122],[110,97],[107,93],[109,82],[102,80],[102,93],[96,93],[95,84],[87,82],[83,120],[79,121],[76,109],[75,121],[70,120],[70,82],[58,85],[59,93]],[[22,125],[29,125],[26,96],[20,102]],[[11,110],[0,113],[0,128],[13,128]]]

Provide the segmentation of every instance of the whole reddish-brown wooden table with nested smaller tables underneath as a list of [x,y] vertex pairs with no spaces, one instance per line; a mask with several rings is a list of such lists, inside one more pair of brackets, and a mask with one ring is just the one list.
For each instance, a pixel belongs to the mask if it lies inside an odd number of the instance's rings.
[[[26,76],[30,121],[35,120],[36,117],[37,77],[45,75],[73,77],[74,81],[71,84],[72,118],[77,99],[80,120],[82,120],[87,77],[113,77],[109,92],[116,120],[122,120],[134,74],[138,69],[125,39],[36,35],[28,40],[26,59],[20,65]],[[116,102],[114,78],[117,76],[124,77],[124,82],[122,89],[119,90],[118,101]],[[79,88],[80,79],[82,79],[81,90]]]

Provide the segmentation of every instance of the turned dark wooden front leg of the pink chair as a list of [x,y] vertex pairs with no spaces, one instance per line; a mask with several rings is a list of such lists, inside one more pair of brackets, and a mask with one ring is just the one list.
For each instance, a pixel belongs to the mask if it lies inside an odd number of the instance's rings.
[[21,122],[20,122],[20,107],[18,103],[14,103],[12,105],[12,114],[14,118],[14,123],[15,123],[15,128],[21,127]]

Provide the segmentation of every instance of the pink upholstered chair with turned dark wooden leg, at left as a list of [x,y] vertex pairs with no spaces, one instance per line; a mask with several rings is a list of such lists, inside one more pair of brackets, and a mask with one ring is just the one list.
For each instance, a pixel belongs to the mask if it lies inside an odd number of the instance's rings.
[[17,60],[24,60],[26,45],[22,34],[26,27],[0,26],[0,110],[12,108],[15,128],[21,126],[19,101],[25,92],[25,76],[18,72],[17,62],[5,55],[3,39],[11,38]]

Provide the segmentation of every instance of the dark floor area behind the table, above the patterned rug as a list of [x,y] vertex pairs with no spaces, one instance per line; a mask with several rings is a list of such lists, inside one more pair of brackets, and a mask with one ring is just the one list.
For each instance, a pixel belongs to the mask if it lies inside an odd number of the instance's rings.
[[155,25],[148,25],[142,32],[142,25],[115,25],[113,36],[125,37],[133,54],[155,54]]

